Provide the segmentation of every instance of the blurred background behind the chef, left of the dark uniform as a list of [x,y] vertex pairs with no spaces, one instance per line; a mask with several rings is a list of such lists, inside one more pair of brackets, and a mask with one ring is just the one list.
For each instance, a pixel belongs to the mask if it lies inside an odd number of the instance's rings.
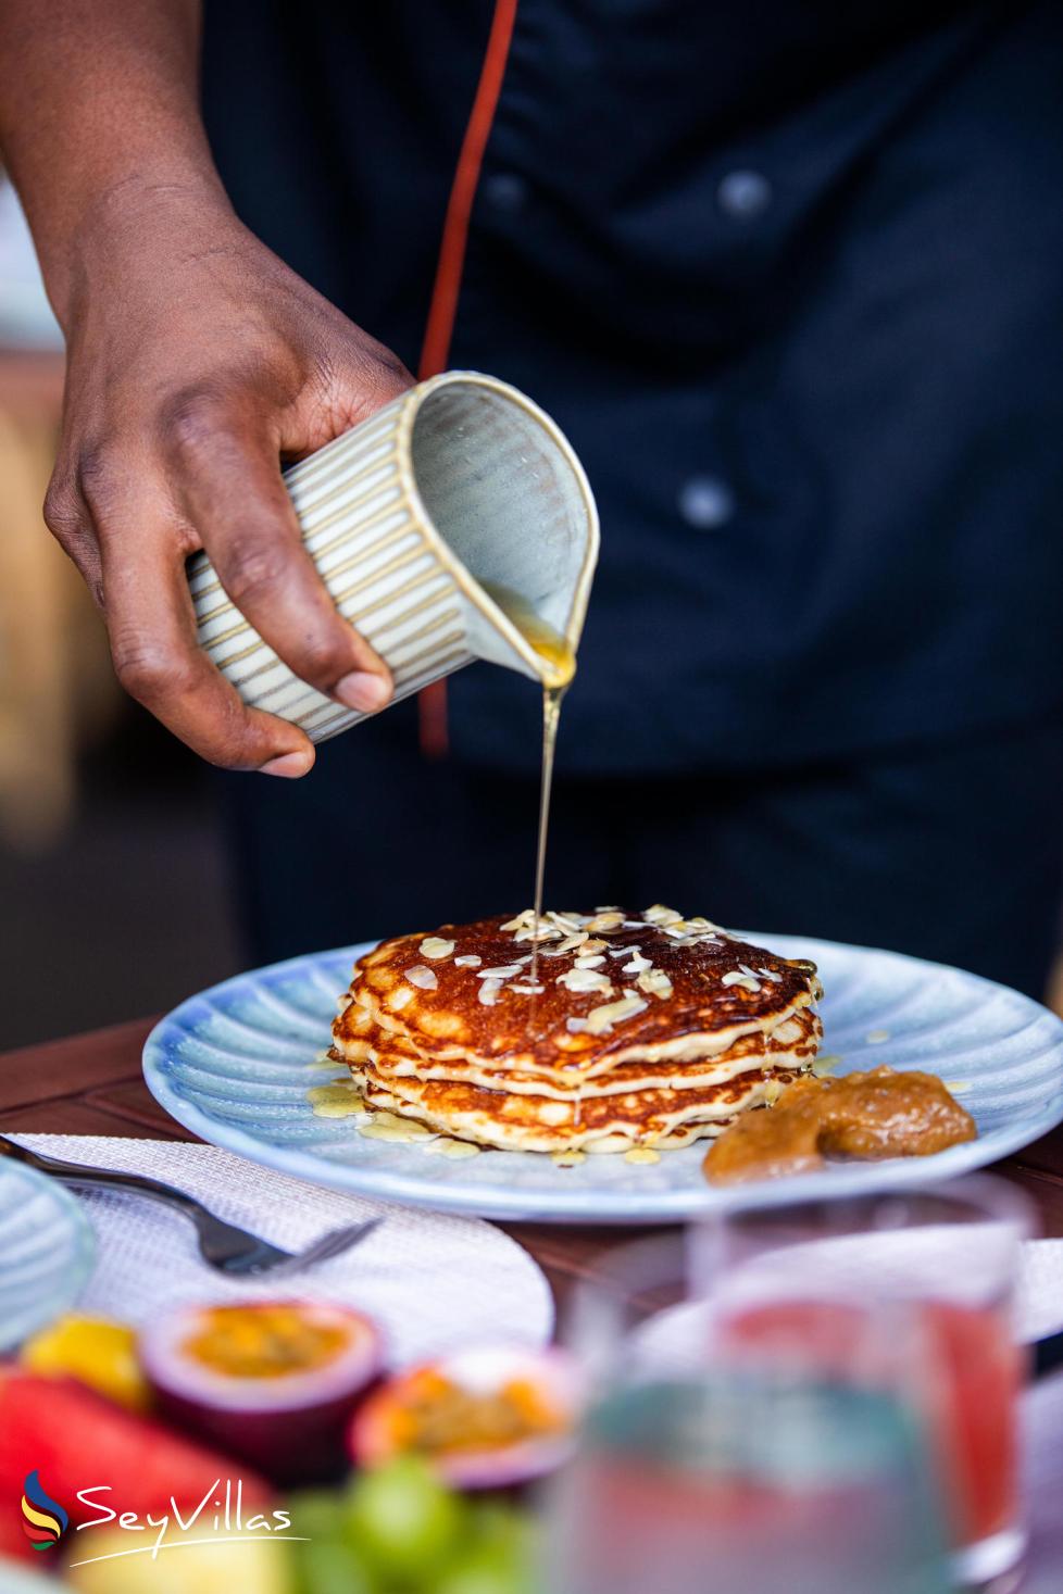
[[[0,1047],[158,1012],[249,961],[210,771],[118,689],[45,529],[61,406],[62,340],[0,175]],[[1047,995],[1063,1012],[1058,963]]]

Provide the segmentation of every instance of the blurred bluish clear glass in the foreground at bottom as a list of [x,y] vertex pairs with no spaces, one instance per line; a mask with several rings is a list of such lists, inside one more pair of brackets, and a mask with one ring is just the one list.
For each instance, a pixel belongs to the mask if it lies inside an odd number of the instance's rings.
[[553,1481],[550,1594],[947,1594],[916,1423],[885,1390],[789,1371],[599,1388]]

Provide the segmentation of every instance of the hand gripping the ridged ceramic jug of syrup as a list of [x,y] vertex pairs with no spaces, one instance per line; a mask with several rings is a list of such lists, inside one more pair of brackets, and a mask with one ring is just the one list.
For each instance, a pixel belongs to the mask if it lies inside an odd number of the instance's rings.
[[413,381],[215,190],[123,193],[78,244],[45,520],[104,611],[118,679],[212,764],[304,775],[309,738],[247,708],[196,642],[185,561],[303,681],[371,711],[387,666],[335,609],[280,480]]

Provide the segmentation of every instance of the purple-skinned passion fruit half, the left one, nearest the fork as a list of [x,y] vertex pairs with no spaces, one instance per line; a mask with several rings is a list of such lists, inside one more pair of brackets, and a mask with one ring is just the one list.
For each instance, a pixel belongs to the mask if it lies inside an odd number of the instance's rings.
[[319,1301],[182,1307],[139,1349],[174,1423],[284,1484],[343,1474],[351,1414],[382,1361],[368,1317]]

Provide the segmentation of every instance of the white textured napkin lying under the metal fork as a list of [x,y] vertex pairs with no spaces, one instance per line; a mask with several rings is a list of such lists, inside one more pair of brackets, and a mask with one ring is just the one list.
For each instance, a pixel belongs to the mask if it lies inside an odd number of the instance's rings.
[[[282,1291],[367,1312],[384,1331],[392,1366],[480,1341],[540,1345],[553,1331],[553,1298],[537,1262],[480,1218],[319,1189],[215,1146],[104,1135],[13,1138],[45,1156],[150,1173],[284,1250],[384,1213],[386,1223],[352,1251],[293,1275]],[[81,1312],[139,1326],[180,1302],[277,1293],[268,1275],[229,1280],[207,1267],[191,1223],[158,1202],[120,1191],[78,1191],[78,1199],[99,1245]]]

